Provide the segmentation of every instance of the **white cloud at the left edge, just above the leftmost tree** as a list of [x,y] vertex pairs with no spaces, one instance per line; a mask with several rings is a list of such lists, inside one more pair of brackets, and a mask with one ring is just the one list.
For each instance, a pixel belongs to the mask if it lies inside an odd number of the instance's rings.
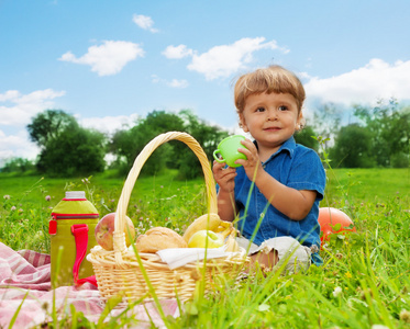
[[38,112],[53,107],[53,99],[63,95],[65,95],[65,91],[54,91],[53,89],[37,90],[29,94],[9,90],[0,94],[0,125],[24,126]]

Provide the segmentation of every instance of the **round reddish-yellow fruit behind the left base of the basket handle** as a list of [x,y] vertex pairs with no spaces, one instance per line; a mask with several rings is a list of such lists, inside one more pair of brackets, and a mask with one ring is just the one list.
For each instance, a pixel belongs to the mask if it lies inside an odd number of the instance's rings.
[[[114,222],[115,213],[110,213],[103,216],[96,226],[95,236],[97,243],[106,250],[114,250]],[[135,227],[129,216],[125,216],[125,245],[129,247],[135,239]]]

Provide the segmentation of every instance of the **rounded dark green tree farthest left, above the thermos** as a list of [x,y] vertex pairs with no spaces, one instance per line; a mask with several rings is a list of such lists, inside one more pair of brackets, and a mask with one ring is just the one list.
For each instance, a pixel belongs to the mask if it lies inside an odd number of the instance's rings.
[[27,129],[31,139],[41,147],[38,171],[54,177],[103,171],[104,135],[80,127],[71,115],[48,110],[34,117]]

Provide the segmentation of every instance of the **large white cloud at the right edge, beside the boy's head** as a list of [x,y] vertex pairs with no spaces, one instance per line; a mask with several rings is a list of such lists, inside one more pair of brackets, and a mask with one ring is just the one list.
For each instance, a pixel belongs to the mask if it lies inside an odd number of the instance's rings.
[[390,65],[374,58],[366,66],[340,76],[311,78],[304,88],[309,100],[320,99],[324,103],[375,103],[391,97],[409,100],[410,60]]

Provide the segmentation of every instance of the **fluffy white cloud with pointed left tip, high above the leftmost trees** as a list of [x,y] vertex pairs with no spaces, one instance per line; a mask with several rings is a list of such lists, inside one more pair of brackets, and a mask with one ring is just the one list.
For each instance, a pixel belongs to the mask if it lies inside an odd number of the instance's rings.
[[129,61],[144,55],[145,52],[138,44],[104,41],[100,46],[89,47],[88,53],[79,58],[67,52],[58,60],[89,65],[99,76],[112,76],[120,72]]

